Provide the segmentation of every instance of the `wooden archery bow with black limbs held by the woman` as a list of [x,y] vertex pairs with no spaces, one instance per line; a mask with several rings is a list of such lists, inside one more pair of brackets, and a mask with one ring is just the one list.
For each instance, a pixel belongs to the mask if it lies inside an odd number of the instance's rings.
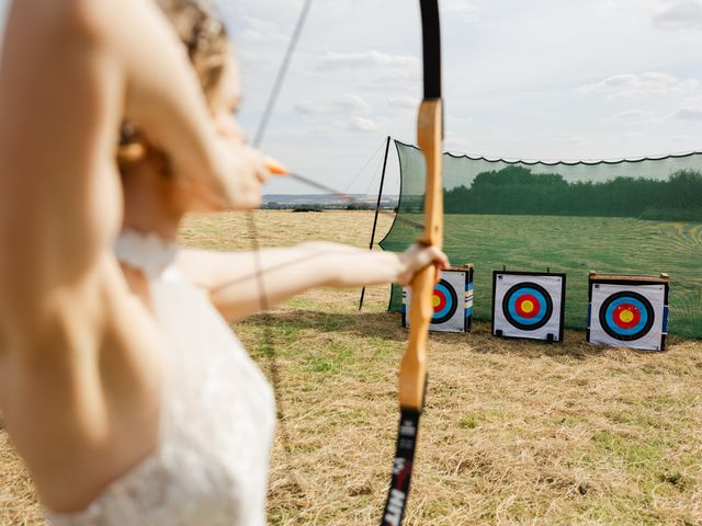
[[[424,98],[419,106],[417,144],[426,161],[424,231],[417,240],[421,245],[442,247],[443,183],[441,156],[443,110],[441,102],[441,32],[438,0],[420,0]],[[424,403],[427,385],[427,340],[433,313],[431,305],[435,267],[419,272],[411,283],[409,341],[399,369],[400,419],[393,477],[387,493],[382,526],[398,526],[403,522],[412,474],[419,416]]]

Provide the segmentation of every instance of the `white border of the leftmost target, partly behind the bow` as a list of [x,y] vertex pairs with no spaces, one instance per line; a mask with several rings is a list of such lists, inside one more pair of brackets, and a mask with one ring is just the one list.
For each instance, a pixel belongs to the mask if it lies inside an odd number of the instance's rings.
[[[448,282],[456,293],[456,311],[443,323],[430,323],[434,332],[469,332],[473,319],[473,265],[452,266],[441,271],[440,278]],[[409,328],[409,306],[412,291],[403,287],[403,327]]]

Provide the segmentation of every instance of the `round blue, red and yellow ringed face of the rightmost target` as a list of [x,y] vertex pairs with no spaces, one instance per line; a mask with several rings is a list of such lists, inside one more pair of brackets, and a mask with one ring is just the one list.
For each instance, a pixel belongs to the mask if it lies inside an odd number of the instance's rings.
[[614,340],[630,342],[645,336],[654,325],[650,301],[634,291],[616,293],[600,307],[600,324]]

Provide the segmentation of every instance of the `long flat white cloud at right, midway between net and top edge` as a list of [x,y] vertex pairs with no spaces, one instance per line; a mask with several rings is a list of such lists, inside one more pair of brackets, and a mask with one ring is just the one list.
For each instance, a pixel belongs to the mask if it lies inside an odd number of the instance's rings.
[[582,85],[578,88],[578,92],[602,94],[609,99],[631,99],[681,95],[698,89],[700,89],[698,80],[681,80],[672,75],[649,71],[614,75],[600,82]]

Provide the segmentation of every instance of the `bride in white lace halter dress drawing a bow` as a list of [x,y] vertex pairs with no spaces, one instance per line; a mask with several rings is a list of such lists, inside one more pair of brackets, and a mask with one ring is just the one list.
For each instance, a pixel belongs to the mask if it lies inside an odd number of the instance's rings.
[[269,174],[210,4],[158,3],[11,7],[0,408],[55,525],[263,525],[273,398],[225,320],[448,263],[418,247],[180,249],[184,214],[254,207]]

